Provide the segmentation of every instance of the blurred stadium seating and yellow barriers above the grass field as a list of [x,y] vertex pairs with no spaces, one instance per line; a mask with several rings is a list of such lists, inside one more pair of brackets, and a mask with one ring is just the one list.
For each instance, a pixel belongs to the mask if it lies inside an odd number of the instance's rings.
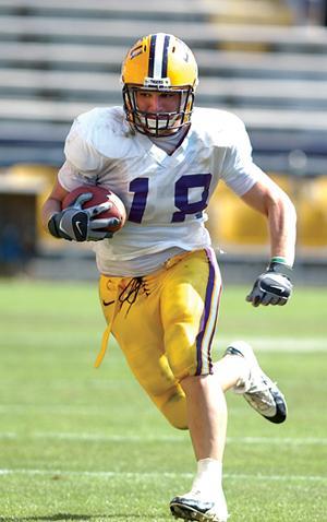
[[[74,117],[120,105],[126,50],[166,32],[196,56],[197,105],[239,115],[255,162],[295,203],[295,278],[326,285],[326,25],[325,0],[0,0],[0,276],[97,277],[87,246],[43,232],[40,206]],[[252,280],[265,220],[225,187],[208,212],[225,278]]]

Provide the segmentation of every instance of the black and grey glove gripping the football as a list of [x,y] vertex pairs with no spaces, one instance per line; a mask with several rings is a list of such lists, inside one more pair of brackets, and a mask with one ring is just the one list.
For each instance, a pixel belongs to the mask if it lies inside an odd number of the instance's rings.
[[90,192],[81,194],[70,206],[53,214],[48,223],[50,234],[69,241],[99,241],[112,237],[112,232],[99,229],[118,225],[117,217],[95,218],[101,212],[110,210],[112,203],[106,201],[99,205],[83,209],[83,204],[92,198]]

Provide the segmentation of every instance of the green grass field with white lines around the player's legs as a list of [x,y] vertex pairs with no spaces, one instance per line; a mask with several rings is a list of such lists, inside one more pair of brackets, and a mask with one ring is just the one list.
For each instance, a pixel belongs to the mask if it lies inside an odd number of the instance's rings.
[[[327,521],[327,288],[254,309],[227,287],[215,356],[245,339],[284,391],[276,426],[228,394],[225,490],[231,522]],[[96,284],[0,282],[0,522],[173,520],[195,464],[112,343]]]

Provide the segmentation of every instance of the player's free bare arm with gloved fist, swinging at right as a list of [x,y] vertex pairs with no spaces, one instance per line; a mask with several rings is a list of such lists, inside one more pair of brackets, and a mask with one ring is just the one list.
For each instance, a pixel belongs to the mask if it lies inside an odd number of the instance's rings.
[[246,299],[254,306],[284,305],[292,292],[290,276],[296,236],[294,206],[268,176],[263,176],[242,200],[266,216],[271,256],[266,272],[257,277]]

